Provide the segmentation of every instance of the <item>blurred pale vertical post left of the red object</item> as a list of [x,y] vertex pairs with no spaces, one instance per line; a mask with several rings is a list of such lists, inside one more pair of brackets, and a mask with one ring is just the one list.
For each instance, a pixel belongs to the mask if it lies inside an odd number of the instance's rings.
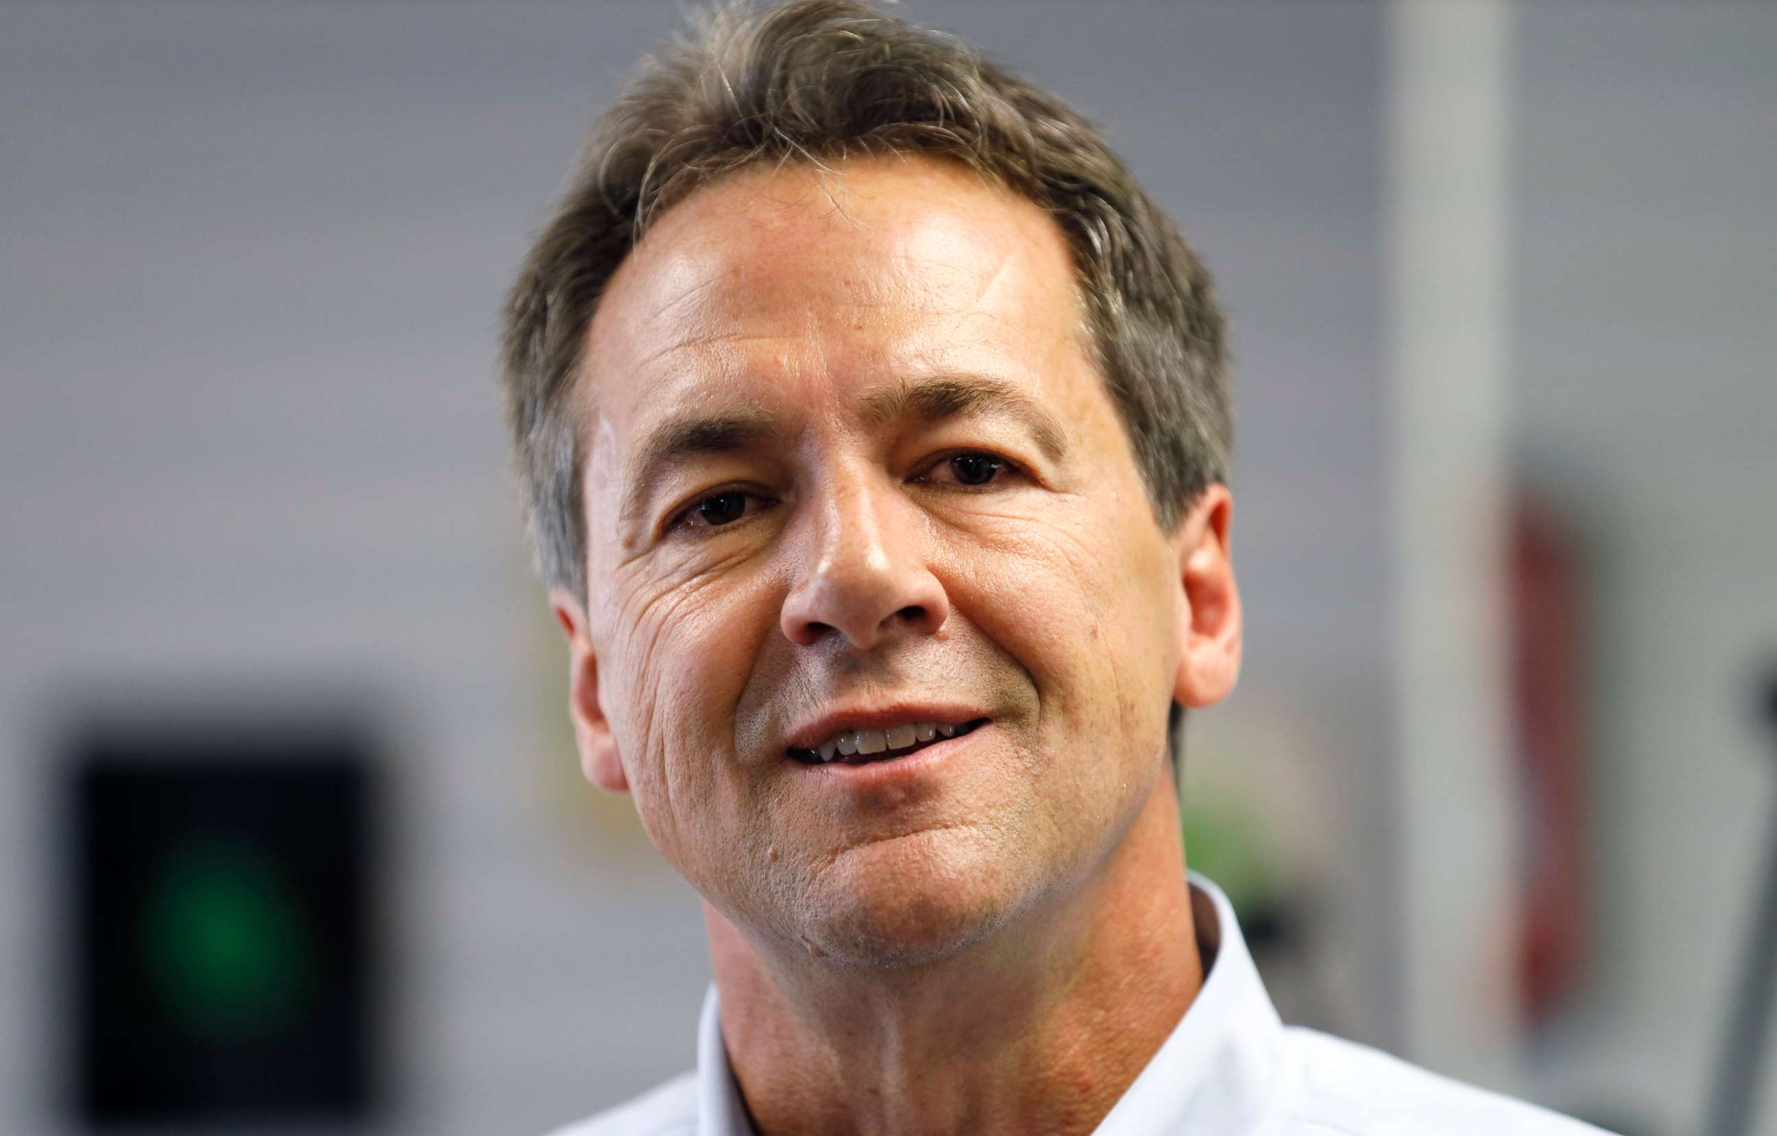
[[1395,0],[1390,36],[1398,1008],[1409,1056],[1510,1090],[1512,2]]

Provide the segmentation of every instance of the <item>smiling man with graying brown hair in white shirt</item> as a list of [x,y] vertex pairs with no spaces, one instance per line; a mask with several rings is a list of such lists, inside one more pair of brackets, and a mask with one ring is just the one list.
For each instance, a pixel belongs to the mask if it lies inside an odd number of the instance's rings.
[[1169,742],[1240,667],[1223,321],[1098,135],[846,0],[608,112],[505,389],[586,776],[704,896],[606,1132],[1582,1132],[1285,1030]]

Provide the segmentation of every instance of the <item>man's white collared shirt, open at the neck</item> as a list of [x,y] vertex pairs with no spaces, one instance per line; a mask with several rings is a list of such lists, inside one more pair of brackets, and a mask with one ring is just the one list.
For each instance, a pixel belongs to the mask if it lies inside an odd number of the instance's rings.
[[[1221,889],[1191,875],[1205,978],[1095,1136],[1603,1136],[1377,1049],[1285,1026]],[[704,998],[697,1072],[553,1136],[757,1136]]]

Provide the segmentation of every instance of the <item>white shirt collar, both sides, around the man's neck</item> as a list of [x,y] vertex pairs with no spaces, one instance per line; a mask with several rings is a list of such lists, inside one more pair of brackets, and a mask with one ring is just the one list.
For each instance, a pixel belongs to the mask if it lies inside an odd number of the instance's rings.
[[[1215,1132],[1260,1127],[1281,1079],[1283,1022],[1221,888],[1191,873],[1191,918],[1203,989],[1093,1136]],[[716,987],[697,1037],[698,1136],[757,1136],[721,1045]]]

